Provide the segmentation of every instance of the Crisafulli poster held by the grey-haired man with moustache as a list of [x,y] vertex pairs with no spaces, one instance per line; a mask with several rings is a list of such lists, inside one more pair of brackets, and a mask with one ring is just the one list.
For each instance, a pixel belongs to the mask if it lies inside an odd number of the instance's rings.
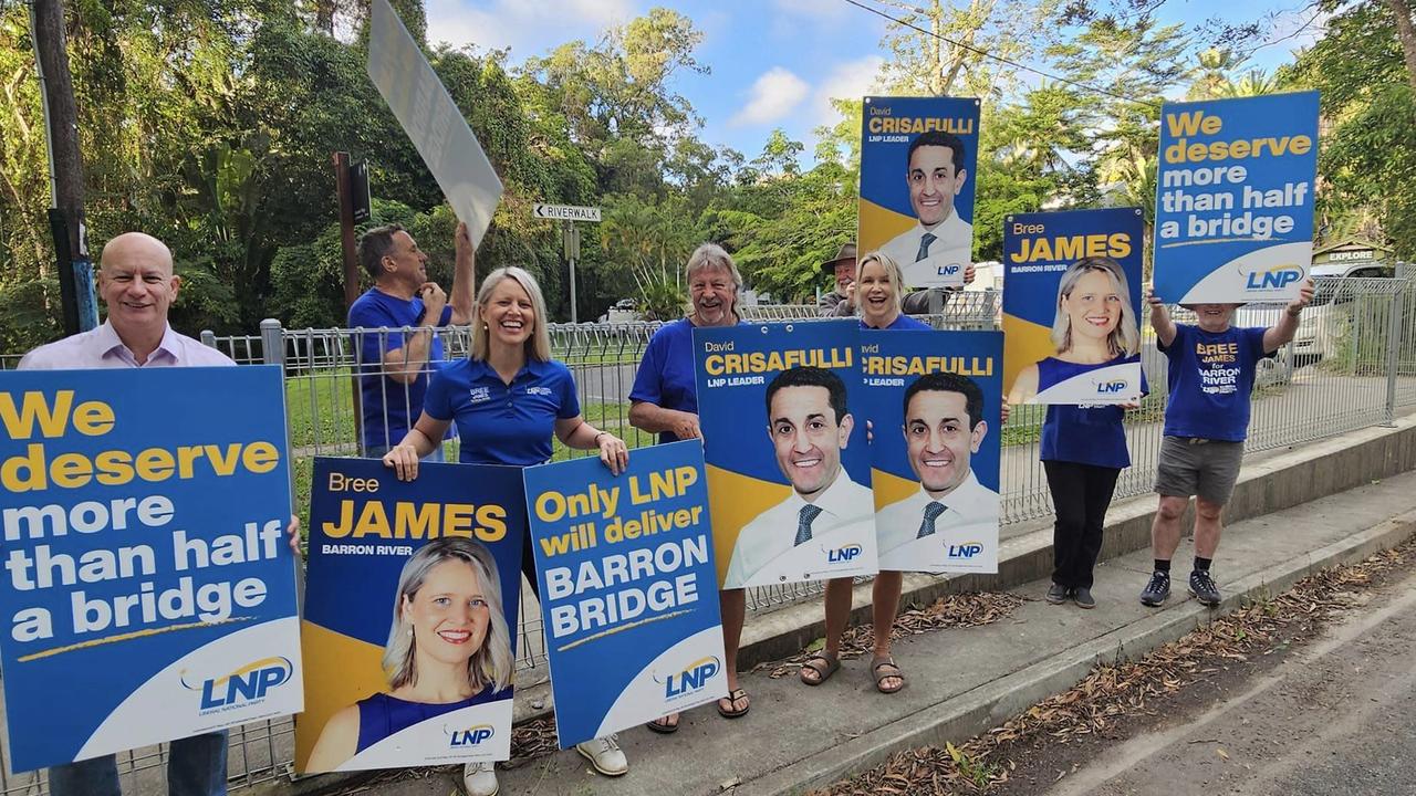
[[854,320],[694,329],[725,589],[877,571],[858,337]]

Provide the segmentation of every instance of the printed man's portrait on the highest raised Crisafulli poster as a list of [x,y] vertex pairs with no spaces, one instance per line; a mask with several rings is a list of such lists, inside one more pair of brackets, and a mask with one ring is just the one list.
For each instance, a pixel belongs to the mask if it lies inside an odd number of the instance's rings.
[[[959,218],[954,197],[969,180],[964,143],[953,133],[930,130],[909,144],[905,181],[919,221],[881,251],[905,272],[910,288],[956,288],[973,252],[973,224]],[[947,266],[959,266],[949,272]]]

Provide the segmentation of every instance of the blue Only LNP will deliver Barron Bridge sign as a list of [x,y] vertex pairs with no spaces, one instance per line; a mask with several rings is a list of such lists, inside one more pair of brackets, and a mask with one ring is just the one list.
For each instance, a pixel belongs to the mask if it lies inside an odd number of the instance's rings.
[[728,694],[702,446],[528,467],[561,748]]

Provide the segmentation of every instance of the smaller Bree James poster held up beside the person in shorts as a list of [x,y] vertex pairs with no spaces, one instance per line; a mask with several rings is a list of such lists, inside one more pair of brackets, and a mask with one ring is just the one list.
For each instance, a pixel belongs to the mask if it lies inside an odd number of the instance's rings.
[[1004,220],[1003,382],[1010,404],[1141,397],[1140,208]]

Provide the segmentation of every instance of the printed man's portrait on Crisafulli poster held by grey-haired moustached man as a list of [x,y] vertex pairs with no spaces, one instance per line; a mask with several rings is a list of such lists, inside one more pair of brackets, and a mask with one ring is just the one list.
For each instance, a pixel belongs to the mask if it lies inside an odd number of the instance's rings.
[[786,370],[767,384],[766,405],[767,438],[792,494],[738,534],[724,588],[874,572],[871,490],[841,466],[855,428],[845,382],[824,368]]

